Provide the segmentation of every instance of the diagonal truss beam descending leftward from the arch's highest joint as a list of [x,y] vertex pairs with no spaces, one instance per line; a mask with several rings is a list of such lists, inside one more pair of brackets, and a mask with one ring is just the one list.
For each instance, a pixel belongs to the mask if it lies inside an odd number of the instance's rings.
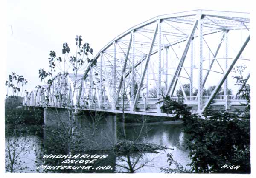
[[[180,59],[180,62],[179,62],[179,64],[178,64],[178,66],[177,66],[177,68],[176,68],[176,71],[175,71],[175,73],[174,73],[174,75],[173,75],[173,77],[172,77],[172,80],[171,80],[171,82],[170,82],[170,84],[169,84],[169,86],[168,86],[168,88],[167,88],[167,90],[166,90],[166,95],[168,95],[168,94],[170,93],[173,84],[176,83],[175,81],[176,81],[177,76],[180,74],[181,67],[182,67],[182,65],[183,65],[183,63],[184,63],[184,61],[185,61],[186,54],[187,54],[187,52],[188,52],[188,50],[189,50],[189,45],[190,45],[190,42],[191,42],[191,40],[192,40],[192,38],[193,38],[193,36],[194,36],[194,34],[195,34],[195,29],[196,29],[197,25],[198,25],[198,19],[195,20],[194,25],[193,25],[193,27],[192,27],[192,31],[191,31],[191,33],[189,34],[189,37],[187,38],[186,46],[185,46],[184,52],[183,52],[183,54],[182,54],[182,57],[181,57],[181,59]],[[174,89],[173,89],[173,90],[174,90]]]

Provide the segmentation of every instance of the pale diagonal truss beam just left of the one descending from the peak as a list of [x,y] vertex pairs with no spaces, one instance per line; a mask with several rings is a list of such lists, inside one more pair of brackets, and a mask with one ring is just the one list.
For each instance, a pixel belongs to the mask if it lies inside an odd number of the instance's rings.
[[150,48],[149,48],[149,51],[148,51],[148,54],[147,54],[147,57],[146,57],[146,63],[145,63],[145,68],[144,68],[144,71],[143,71],[143,75],[140,79],[140,85],[139,85],[139,88],[137,90],[137,93],[136,93],[136,96],[135,96],[135,99],[134,99],[134,103],[131,107],[131,111],[134,110],[135,108],[135,105],[139,99],[139,96],[140,96],[140,90],[142,88],[142,85],[143,85],[143,80],[144,80],[144,77],[145,77],[145,74],[146,74],[146,71],[147,71],[147,68],[148,68],[148,63],[149,63],[149,60],[150,60],[150,57],[151,57],[151,52],[152,52],[152,49],[154,47],[154,42],[156,40],[156,36],[157,36],[157,31],[158,31],[158,23],[156,25],[156,28],[155,28],[155,31],[154,31],[154,36],[152,38],[152,41],[151,41],[151,45],[150,45]]

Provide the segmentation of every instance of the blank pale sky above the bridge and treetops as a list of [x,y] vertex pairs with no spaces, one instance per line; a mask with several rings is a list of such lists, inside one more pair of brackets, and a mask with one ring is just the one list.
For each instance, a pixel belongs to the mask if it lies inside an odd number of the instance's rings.
[[39,85],[38,69],[48,68],[49,51],[61,55],[63,42],[77,34],[96,53],[134,25],[162,14],[195,9],[250,12],[247,1],[227,0],[8,0],[6,76],[11,72]]

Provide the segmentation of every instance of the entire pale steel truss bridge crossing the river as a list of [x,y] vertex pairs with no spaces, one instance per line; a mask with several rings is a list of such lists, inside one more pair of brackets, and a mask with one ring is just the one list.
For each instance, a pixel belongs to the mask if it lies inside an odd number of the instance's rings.
[[[195,10],[157,16],[111,40],[84,74],[55,76],[48,89],[32,91],[23,104],[166,116],[156,104],[165,94],[198,113],[212,106],[236,107],[246,100],[228,95],[234,86],[230,73],[250,62],[249,40],[248,13]],[[247,71],[244,78],[249,77]],[[189,95],[183,84],[189,85]],[[210,96],[203,95],[207,85],[215,85]],[[221,87],[224,95],[218,95]],[[177,90],[183,97],[174,96]]]

